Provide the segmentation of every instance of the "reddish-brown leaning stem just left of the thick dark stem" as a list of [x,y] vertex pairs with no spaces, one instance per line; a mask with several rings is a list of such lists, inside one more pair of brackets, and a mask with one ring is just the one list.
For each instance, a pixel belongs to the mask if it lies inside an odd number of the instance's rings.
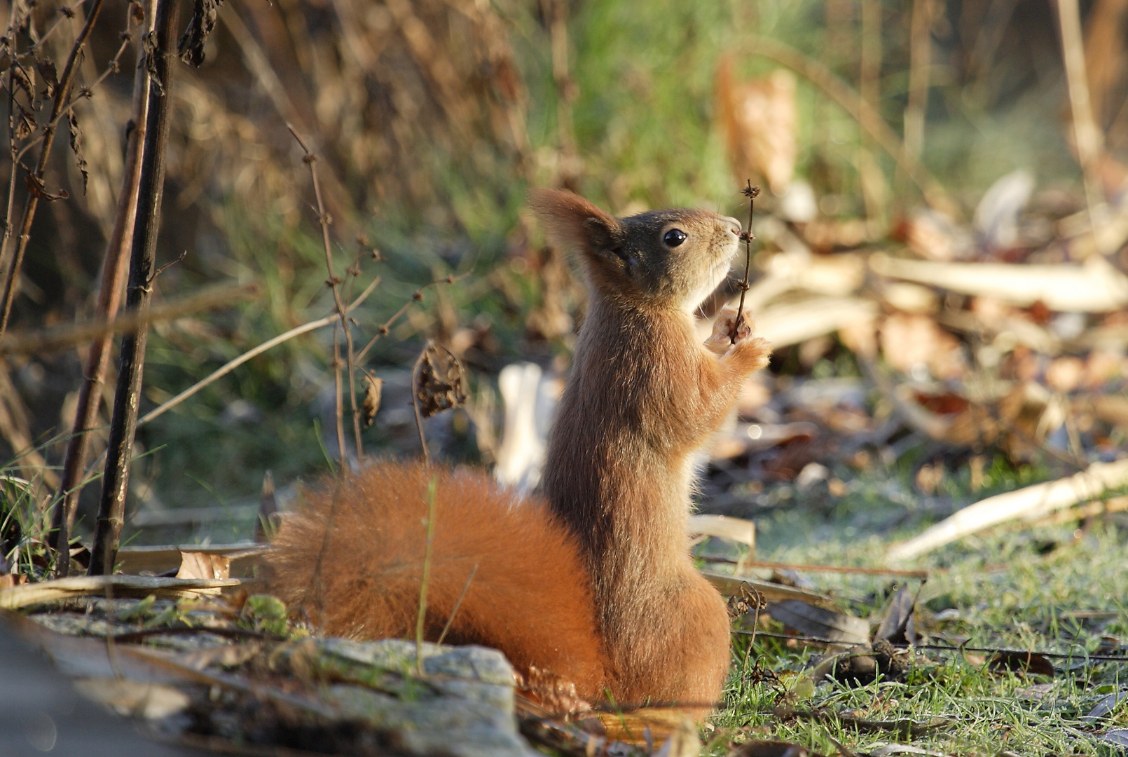
[[[153,21],[153,0],[146,2],[146,30]],[[53,28],[53,27],[52,27]],[[138,45],[136,71],[133,78],[133,124],[130,134],[125,170],[122,173],[122,191],[117,195],[117,212],[114,217],[114,230],[106,246],[106,256],[102,267],[102,287],[98,291],[96,314],[104,322],[112,322],[121,305],[122,281],[125,279],[129,261],[129,241],[133,237],[133,221],[136,215],[138,191],[141,184],[141,143],[144,140],[146,117],[149,107],[149,73],[142,61],[142,46]],[[87,354],[82,384],[78,393],[78,408],[74,413],[74,425],[67,443],[67,455],[63,458],[63,477],[60,485],[62,501],[55,505],[52,516],[52,530],[47,544],[56,551],[55,574],[64,578],[70,570],[70,529],[74,523],[74,512],[78,509],[78,498],[82,493],[82,474],[86,468],[86,456],[90,444],[87,433],[94,428],[98,415],[102,397],[100,387],[109,366],[109,352],[113,344],[113,332],[103,334],[90,344]]]

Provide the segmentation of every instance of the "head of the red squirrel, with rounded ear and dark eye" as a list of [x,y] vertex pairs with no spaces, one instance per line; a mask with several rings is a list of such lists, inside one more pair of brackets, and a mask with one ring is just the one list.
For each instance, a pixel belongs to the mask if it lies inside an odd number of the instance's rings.
[[694,310],[724,281],[740,221],[706,210],[615,218],[571,192],[534,191],[529,206],[549,241],[576,255],[596,292]]

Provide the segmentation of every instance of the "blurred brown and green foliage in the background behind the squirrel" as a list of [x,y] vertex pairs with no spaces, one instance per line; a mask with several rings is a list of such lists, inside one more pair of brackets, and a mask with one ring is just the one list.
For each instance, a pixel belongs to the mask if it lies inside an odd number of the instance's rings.
[[[1098,29],[1121,24],[1123,5],[1083,3],[1086,41],[1104,45],[1089,49],[1100,64],[1090,79],[1110,175],[1128,147],[1122,34],[1107,39]],[[86,81],[116,49],[125,10],[107,0]],[[42,0],[39,28],[58,11]],[[924,32],[914,36],[922,12]],[[81,9],[54,35],[56,56],[80,23]],[[287,123],[319,157],[337,271],[356,265],[354,292],[380,276],[354,313],[360,344],[416,288],[469,274],[426,289],[367,357],[388,379],[384,410],[365,431],[377,454],[417,451],[404,377],[426,337],[451,345],[474,373],[469,410],[434,425],[452,459],[490,461],[501,367],[566,359],[581,298],[522,210],[530,186],[573,188],[617,214],[691,205],[742,215],[739,188],[751,175],[774,192],[763,203],[768,213],[801,225],[862,222],[852,245],[836,227],[830,248],[897,244],[925,205],[919,191],[823,87],[781,76],[786,69],[759,54],[758,39],[828,68],[898,135],[916,117],[906,149],[919,152],[958,212],[969,214],[1016,168],[1036,174],[1033,202],[1054,219],[1082,208],[1047,0],[228,0],[203,67],[176,71],[159,261],[187,255],[161,274],[157,296],[221,281],[257,281],[261,294],[158,324],[142,412],[331,311],[309,174]],[[923,90],[913,80],[922,45]],[[12,328],[89,316],[121,183],[132,68],[127,54],[122,72],[78,108],[86,193],[67,146],[56,146],[47,185],[71,197],[39,213]],[[741,148],[735,133],[748,129],[738,123],[748,97],[763,105],[765,121],[752,124],[766,135],[759,148]],[[813,202],[799,215],[786,204],[795,186],[793,202]],[[248,536],[265,470],[290,482],[336,455],[332,338],[325,328],[275,347],[143,426],[136,451],[149,454],[134,467],[130,510],[235,505],[231,522],[217,517],[176,537]],[[773,371],[812,370],[779,358]],[[834,358],[820,370],[856,370]],[[32,438],[69,429],[81,364],[74,350],[10,361]],[[45,452],[54,465],[62,447]],[[83,499],[86,523],[96,490]]]

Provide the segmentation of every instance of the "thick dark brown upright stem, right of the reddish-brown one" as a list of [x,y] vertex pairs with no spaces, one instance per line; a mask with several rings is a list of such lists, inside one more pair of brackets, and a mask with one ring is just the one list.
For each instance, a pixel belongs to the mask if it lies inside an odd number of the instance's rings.
[[[152,52],[155,60],[150,67],[156,81],[149,91],[136,221],[130,256],[129,291],[125,300],[126,308],[135,313],[144,313],[149,308],[149,298],[152,293],[157,230],[165,184],[165,148],[168,144],[177,9],[176,0],[157,0],[155,14],[157,39]],[[102,479],[102,502],[95,521],[94,547],[90,555],[90,575],[109,574],[114,569],[114,557],[117,554],[117,542],[125,512],[125,494],[129,488],[130,459],[133,435],[136,431],[138,404],[141,399],[147,336],[148,328],[141,327],[135,333],[122,337],[117,387],[114,391],[114,413],[109,423],[109,444]]]

